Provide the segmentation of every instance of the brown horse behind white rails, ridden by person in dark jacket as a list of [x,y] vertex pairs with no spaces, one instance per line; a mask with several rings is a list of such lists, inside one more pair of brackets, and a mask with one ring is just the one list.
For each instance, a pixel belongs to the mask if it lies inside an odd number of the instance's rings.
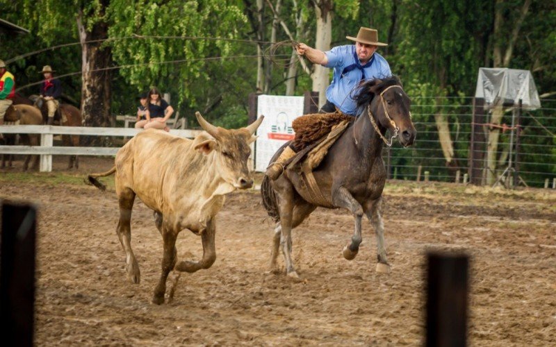
[[[44,99],[38,95],[31,95],[29,99],[33,101],[33,105],[37,107],[42,113],[43,123],[47,124],[48,121],[48,109],[47,103]],[[60,126],[83,126],[83,117],[81,117],[81,111],[69,103],[60,103],[60,108],[57,115],[54,116],[54,124]],[[74,146],[79,147],[79,135],[62,135],[62,142],[64,146]],[[76,155],[70,155],[70,162],[67,165],[67,169],[72,169],[74,167],[79,169],[79,158]]]

